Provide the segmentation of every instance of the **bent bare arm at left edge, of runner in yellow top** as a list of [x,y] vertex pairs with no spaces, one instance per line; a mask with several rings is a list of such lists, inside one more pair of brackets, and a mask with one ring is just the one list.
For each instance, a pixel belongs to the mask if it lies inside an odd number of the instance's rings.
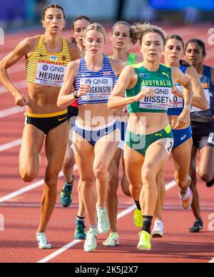
[[34,38],[24,39],[24,41],[21,41],[21,43],[16,46],[14,51],[12,51],[0,62],[0,81],[12,94],[12,96],[14,96],[16,105],[18,106],[26,106],[28,104],[28,100],[18,91],[18,89],[16,89],[11,79],[9,79],[7,69],[9,69],[11,66],[14,66],[14,64],[16,64],[24,56],[27,56],[27,54],[29,54],[31,51],[34,51],[34,47]]

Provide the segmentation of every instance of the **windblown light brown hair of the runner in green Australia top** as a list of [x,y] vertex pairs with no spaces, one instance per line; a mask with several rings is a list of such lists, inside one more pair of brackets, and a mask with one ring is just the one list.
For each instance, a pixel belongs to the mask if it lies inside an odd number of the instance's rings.
[[150,23],[144,23],[144,24],[136,24],[134,26],[131,26],[131,35],[134,43],[136,44],[138,39],[140,40],[140,43],[142,44],[143,36],[145,36],[148,33],[156,33],[161,35],[163,39],[163,44],[165,45],[165,31],[161,29],[158,26],[151,25]]

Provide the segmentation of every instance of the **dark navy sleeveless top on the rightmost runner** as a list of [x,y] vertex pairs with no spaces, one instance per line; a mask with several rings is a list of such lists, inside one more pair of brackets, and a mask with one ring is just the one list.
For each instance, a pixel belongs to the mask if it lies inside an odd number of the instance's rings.
[[202,111],[196,107],[191,109],[191,120],[198,122],[210,122],[213,121],[214,116],[214,84],[212,80],[211,67],[203,67],[203,76],[200,78],[200,82],[205,91],[205,96],[208,101],[208,110]]

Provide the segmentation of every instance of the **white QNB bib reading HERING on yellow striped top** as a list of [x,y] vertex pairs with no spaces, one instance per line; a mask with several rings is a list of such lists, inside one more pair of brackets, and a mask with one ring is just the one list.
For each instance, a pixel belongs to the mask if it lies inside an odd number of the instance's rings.
[[65,70],[66,66],[39,63],[36,71],[35,84],[61,87],[63,85]]

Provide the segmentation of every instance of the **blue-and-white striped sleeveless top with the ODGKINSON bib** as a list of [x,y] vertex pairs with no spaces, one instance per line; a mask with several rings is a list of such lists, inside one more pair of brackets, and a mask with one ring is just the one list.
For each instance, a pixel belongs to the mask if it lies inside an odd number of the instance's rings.
[[80,61],[80,67],[76,80],[74,81],[74,89],[78,91],[81,84],[90,84],[88,94],[77,99],[78,106],[83,104],[107,104],[111,96],[111,92],[116,84],[116,75],[111,68],[108,58],[103,57],[104,66],[101,71],[89,71],[86,67],[85,58]]

